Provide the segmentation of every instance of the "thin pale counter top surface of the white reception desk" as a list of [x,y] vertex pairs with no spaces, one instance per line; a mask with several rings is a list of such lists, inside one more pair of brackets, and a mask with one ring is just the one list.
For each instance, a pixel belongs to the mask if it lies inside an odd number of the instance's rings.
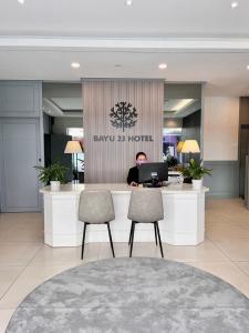
[[[100,184],[61,184],[60,191],[51,191],[50,186],[45,186],[40,190],[43,194],[60,195],[60,194],[80,194],[83,190],[111,190],[112,193],[129,193],[132,190],[143,190],[138,186],[129,186],[126,183],[100,183]],[[168,184],[167,186],[160,188],[163,193],[176,194],[176,193],[200,193],[208,192],[209,189],[203,186],[201,190],[194,190],[191,184]]]

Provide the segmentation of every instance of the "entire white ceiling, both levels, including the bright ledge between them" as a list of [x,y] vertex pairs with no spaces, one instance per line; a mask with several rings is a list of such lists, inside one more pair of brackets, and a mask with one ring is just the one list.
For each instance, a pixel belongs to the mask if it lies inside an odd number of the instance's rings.
[[0,79],[160,78],[249,95],[249,1],[238,2],[0,0]]

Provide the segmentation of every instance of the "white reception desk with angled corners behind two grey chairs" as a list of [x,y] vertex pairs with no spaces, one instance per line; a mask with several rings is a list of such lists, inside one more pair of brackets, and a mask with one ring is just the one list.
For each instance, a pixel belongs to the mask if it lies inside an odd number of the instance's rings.
[[[41,190],[44,198],[44,243],[51,246],[80,246],[83,223],[77,220],[82,190],[108,189],[113,195],[115,220],[110,223],[114,242],[128,242],[131,221],[127,219],[131,188],[126,184],[65,184],[60,191]],[[205,192],[191,184],[169,184],[160,188],[165,219],[159,221],[162,242],[172,245],[196,245],[205,236]],[[149,210],[149,206],[148,206]],[[135,242],[154,242],[151,223],[136,226]],[[108,242],[106,225],[90,225],[86,243]]]

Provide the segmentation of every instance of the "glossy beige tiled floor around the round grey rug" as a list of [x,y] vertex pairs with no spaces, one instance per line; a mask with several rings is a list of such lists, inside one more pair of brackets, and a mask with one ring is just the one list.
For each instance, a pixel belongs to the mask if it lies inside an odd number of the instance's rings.
[[[18,304],[37,285],[82,264],[80,248],[52,249],[43,244],[42,219],[39,213],[0,214],[0,333]],[[116,256],[127,255],[127,244],[114,245]],[[164,244],[164,251],[166,259],[220,276],[249,297],[249,211],[239,199],[207,201],[203,244]],[[159,251],[154,243],[136,243],[134,255],[159,258]],[[91,244],[84,262],[111,256],[108,244]]]

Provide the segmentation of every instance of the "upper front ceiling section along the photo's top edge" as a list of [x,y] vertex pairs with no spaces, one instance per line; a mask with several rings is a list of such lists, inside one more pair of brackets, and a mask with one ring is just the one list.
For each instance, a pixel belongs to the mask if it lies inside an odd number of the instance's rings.
[[249,1],[0,1],[0,34],[84,37],[249,37]]

